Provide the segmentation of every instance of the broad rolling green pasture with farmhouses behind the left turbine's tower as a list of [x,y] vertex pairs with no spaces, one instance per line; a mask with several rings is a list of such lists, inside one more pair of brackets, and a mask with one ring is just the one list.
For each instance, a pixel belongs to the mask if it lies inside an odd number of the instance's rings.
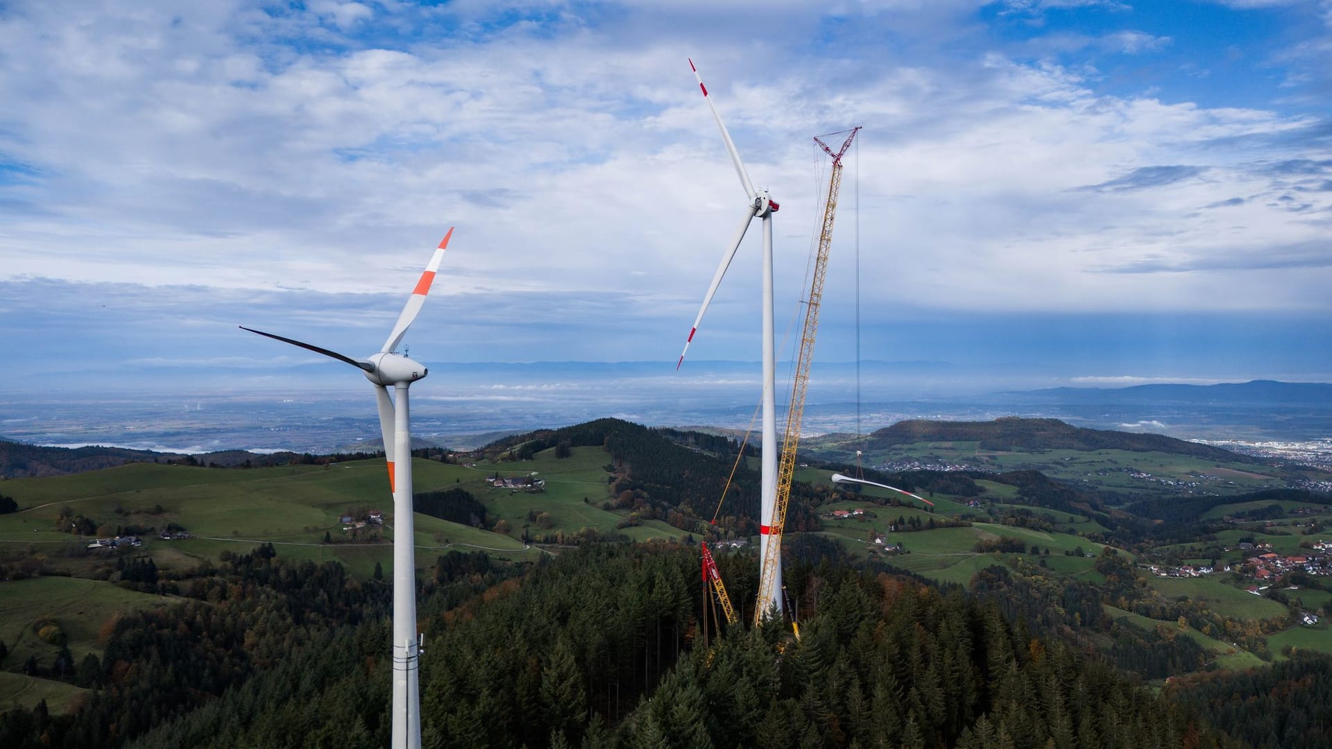
[[[486,476],[477,469],[422,458],[413,460],[413,488],[418,492],[450,488]],[[9,489],[9,486],[15,486]],[[55,486],[55,489],[52,489]],[[139,486],[139,488],[135,488]],[[41,480],[7,482],[20,505],[28,497],[41,506],[0,516],[0,549],[36,550],[60,566],[83,569],[109,554],[84,560],[55,560],[61,545],[77,538],[55,530],[61,508],[91,517],[104,526],[140,525],[164,528],[176,522],[193,538],[161,541],[144,534],[141,553],[166,569],[216,560],[222,550],[244,553],[256,544],[273,542],[284,558],[341,561],[356,574],[370,574],[376,562],[388,565],[393,552],[393,497],[382,460],[332,465],[297,465],[256,469],[210,469],[161,464],[131,464],[107,470]],[[602,489],[605,492],[605,489]],[[324,544],[324,534],[346,538],[338,517],[380,509],[386,528],[382,544]],[[432,549],[478,548],[498,556],[531,558],[515,538],[416,514],[418,556]]]

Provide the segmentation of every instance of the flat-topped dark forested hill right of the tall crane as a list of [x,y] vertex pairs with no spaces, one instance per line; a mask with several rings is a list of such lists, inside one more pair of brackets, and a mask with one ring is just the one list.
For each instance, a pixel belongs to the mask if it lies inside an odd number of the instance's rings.
[[1163,452],[1231,462],[1255,458],[1167,437],[1108,429],[1083,429],[1058,418],[1003,417],[994,421],[898,421],[870,434],[870,448],[883,449],[911,442],[980,442],[987,450],[1132,450]]

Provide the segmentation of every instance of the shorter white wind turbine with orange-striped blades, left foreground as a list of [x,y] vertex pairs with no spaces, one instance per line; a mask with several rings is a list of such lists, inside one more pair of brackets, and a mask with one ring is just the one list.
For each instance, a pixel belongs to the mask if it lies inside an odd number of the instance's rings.
[[[408,406],[408,388],[426,376],[425,365],[397,353],[402,336],[416,320],[440,260],[449,247],[453,227],[444,235],[429,265],[421,273],[412,296],[408,297],[393,332],[377,353],[365,359],[320,348],[273,333],[265,333],[241,325],[242,331],[268,336],[324,356],[345,361],[365,374],[374,385],[380,404],[380,430],[384,434],[384,457],[389,464],[389,490],[393,492],[393,746],[420,749],[421,746],[421,689],[417,672],[421,658],[421,641],[416,632],[416,553],[413,538],[416,522],[412,517],[412,426]],[[389,397],[389,388],[394,394]]]

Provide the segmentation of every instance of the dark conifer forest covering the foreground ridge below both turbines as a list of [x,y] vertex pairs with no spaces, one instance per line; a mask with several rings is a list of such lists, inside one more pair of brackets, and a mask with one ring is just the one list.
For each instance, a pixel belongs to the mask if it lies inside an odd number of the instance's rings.
[[[750,560],[722,557],[737,581]],[[428,746],[1231,746],[1199,705],[1008,622],[994,602],[795,561],[794,641],[705,646],[698,558],[594,544],[527,568],[450,553],[426,584]],[[9,710],[0,745],[382,746],[388,588],[270,548],[117,621],[69,717]],[[805,596],[810,601],[810,596]],[[1283,744],[1284,745],[1284,744]]]

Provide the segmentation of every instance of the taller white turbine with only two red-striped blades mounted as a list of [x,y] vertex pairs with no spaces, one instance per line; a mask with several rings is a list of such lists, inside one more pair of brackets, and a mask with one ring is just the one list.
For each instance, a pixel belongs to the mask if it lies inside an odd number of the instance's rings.
[[[731,260],[735,257],[735,251],[741,247],[741,240],[745,239],[745,232],[749,231],[750,224],[754,219],[763,219],[763,468],[762,468],[762,490],[761,490],[761,509],[759,509],[759,550],[758,558],[767,558],[767,545],[770,542],[781,544],[781,536],[775,538],[770,537],[773,530],[773,510],[777,505],[777,404],[775,388],[773,384],[773,377],[775,372],[774,364],[774,344],[773,344],[773,213],[777,212],[777,201],[769,195],[767,189],[755,191],[754,184],[750,183],[749,172],[745,171],[745,164],[741,161],[739,152],[735,151],[735,143],[731,141],[731,133],[726,131],[726,123],[722,121],[722,116],[717,113],[717,105],[713,104],[713,97],[707,95],[707,87],[703,85],[702,76],[698,75],[698,68],[694,67],[694,61],[689,61],[689,67],[694,71],[694,77],[698,80],[698,88],[703,92],[703,99],[707,100],[707,107],[713,111],[713,119],[717,120],[717,128],[722,131],[722,141],[726,143],[726,151],[731,155],[731,164],[735,165],[735,173],[741,177],[741,187],[745,188],[745,196],[747,203],[745,204],[745,215],[741,219],[739,227],[735,228],[735,236],[731,239],[731,244],[727,251],[722,255],[722,263],[717,267],[717,273],[713,276],[711,285],[707,287],[707,295],[703,296],[703,305],[698,309],[698,317],[694,319],[694,327],[689,331],[689,339],[685,340],[685,351],[679,355],[679,361],[675,363],[675,369],[685,361],[685,352],[689,351],[689,344],[694,340],[694,333],[698,332],[698,324],[703,321],[703,313],[707,312],[707,305],[713,301],[713,295],[717,293],[717,287],[722,283],[722,276],[726,275],[726,268],[730,267]],[[778,552],[777,556],[777,570],[771,578],[763,578],[759,581],[758,590],[758,609],[755,612],[757,618],[763,617],[770,609],[775,606],[778,614],[782,609],[782,557],[781,549],[774,549]],[[762,564],[762,561],[759,562]]]

